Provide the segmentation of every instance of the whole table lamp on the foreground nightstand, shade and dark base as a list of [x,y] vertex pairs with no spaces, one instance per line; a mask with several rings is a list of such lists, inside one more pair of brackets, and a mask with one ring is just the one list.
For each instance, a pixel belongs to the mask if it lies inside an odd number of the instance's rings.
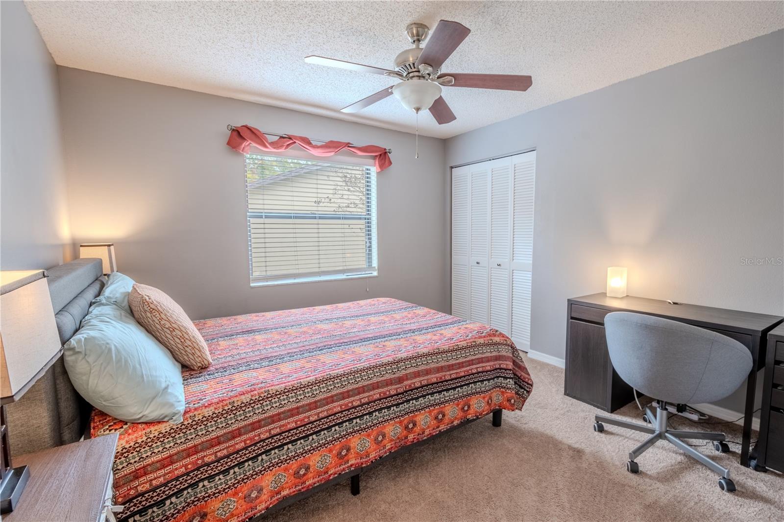
[[22,395],[60,357],[63,346],[44,270],[0,272],[0,513],[19,502],[30,472],[14,468],[8,444],[5,404]]

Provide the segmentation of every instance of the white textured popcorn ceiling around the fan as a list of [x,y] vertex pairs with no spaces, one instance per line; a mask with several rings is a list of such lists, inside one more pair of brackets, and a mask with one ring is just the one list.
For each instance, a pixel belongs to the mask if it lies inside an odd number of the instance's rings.
[[[784,2],[26,2],[56,63],[413,132],[395,80],[308,64],[309,54],[394,68],[405,26],[471,34],[449,72],[531,74],[528,92],[445,88],[445,138],[784,27]],[[728,71],[731,74],[731,71]]]

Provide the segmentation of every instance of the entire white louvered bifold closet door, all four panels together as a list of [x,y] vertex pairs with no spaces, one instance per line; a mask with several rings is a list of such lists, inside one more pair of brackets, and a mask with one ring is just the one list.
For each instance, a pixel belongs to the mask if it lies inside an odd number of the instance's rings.
[[536,153],[452,169],[452,315],[531,346]]

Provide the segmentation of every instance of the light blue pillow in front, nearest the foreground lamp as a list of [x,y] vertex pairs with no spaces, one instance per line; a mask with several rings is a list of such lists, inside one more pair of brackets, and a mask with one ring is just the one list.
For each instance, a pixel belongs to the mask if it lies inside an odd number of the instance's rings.
[[119,306],[91,306],[65,343],[64,362],[76,391],[109,415],[126,422],[183,420],[180,363]]

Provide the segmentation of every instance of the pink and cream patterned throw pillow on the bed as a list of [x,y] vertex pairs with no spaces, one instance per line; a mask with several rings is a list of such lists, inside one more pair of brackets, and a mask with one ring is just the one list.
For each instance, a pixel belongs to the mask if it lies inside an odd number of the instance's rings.
[[158,339],[180,364],[196,370],[212,364],[207,343],[185,310],[164,292],[135,283],[128,296],[133,317]]

